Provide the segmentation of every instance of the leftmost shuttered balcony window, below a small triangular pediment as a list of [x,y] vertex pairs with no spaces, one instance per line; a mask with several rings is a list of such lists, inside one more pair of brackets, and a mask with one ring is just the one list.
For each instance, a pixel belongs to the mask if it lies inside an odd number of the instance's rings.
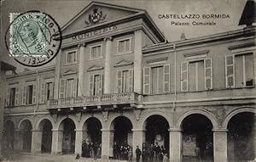
[[76,78],[61,79],[59,98],[77,97],[77,89],[78,81]]

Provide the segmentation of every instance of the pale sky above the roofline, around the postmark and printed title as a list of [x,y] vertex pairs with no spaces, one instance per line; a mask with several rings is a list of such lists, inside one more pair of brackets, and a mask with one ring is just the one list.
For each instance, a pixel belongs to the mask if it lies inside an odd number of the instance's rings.
[[[154,23],[164,33],[169,42],[180,40],[182,33],[186,38],[207,36],[224,31],[234,31],[244,26],[238,26],[242,10],[247,0],[96,0],[97,2],[113,3],[131,8],[143,8],[154,20]],[[85,8],[90,0],[2,0],[1,1],[1,53],[0,60],[14,64],[18,72],[26,68],[9,57],[5,47],[4,34],[9,26],[9,13],[24,13],[29,10],[39,10],[50,14],[62,26],[71,20],[75,14]],[[198,19],[200,22],[216,22],[213,26],[194,26],[194,20],[160,19],[163,14],[225,14],[228,19]],[[189,25],[171,25],[172,21],[189,22]],[[53,65],[54,60],[45,65]],[[42,66],[44,67],[44,66]],[[41,67],[41,68],[42,68]],[[29,68],[34,69],[34,68]]]

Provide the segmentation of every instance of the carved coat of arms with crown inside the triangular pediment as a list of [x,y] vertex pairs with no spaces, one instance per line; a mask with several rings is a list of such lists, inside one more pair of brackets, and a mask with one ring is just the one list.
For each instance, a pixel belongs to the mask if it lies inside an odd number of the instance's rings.
[[99,23],[99,22],[103,22],[106,17],[107,17],[107,14],[102,14],[102,11],[98,12],[98,9],[99,8],[94,8],[93,9],[93,14],[89,14],[89,22],[87,20],[84,20],[84,23],[85,23],[85,27],[88,27],[90,25],[95,25],[96,23]]

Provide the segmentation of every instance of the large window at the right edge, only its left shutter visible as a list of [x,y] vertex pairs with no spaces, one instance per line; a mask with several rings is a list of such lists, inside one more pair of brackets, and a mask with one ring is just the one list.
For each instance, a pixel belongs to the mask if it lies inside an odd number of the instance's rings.
[[226,87],[253,86],[254,68],[253,53],[226,56]]

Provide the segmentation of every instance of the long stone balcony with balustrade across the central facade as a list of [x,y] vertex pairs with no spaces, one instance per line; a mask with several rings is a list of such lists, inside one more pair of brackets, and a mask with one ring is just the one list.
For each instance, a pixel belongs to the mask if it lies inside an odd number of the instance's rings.
[[136,92],[103,94],[77,98],[60,98],[48,101],[48,109],[115,109],[119,107],[136,107],[138,94]]

